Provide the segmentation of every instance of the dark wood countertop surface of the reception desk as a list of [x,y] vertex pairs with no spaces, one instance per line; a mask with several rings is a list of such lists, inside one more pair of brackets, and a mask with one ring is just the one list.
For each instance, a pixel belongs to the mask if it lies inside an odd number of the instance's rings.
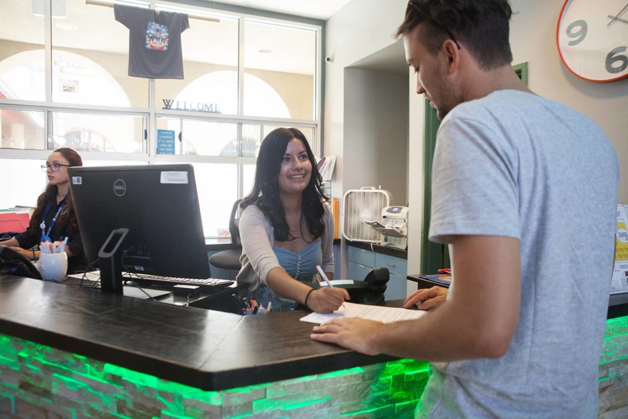
[[307,313],[239,316],[0,276],[0,333],[200,389],[394,359],[311,340]]

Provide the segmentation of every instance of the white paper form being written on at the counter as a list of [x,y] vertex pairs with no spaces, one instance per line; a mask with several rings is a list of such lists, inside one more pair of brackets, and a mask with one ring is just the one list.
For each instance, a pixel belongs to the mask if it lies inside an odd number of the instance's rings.
[[382,323],[393,323],[394,321],[412,320],[424,316],[426,311],[408,310],[407,308],[369,306],[368,304],[347,303],[333,313],[320,314],[311,313],[301,317],[301,321],[310,323],[325,323],[335,318],[359,317],[367,320],[381,321]]

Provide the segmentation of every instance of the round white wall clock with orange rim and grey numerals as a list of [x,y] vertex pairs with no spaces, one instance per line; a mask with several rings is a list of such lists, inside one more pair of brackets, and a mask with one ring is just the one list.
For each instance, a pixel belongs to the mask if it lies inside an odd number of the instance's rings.
[[563,64],[581,79],[628,76],[628,0],[566,0],[556,44]]

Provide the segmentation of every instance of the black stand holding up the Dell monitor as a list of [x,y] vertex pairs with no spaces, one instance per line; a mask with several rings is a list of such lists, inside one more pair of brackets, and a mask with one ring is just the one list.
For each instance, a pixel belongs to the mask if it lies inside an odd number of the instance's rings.
[[122,294],[122,250],[128,228],[116,228],[103,243],[98,252],[100,265],[100,291]]

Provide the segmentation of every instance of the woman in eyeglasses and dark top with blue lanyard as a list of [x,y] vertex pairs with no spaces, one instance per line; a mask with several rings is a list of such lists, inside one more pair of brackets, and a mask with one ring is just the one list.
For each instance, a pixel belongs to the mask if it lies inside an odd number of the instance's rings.
[[48,156],[41,169],[46,172],[48,186],[37,198],[37,206],[24,233],[0,242],[20,254],[38,259],[40,250],[26,250],[49,240],[62,241],[68,237],[65,252],[68,254],[68,274],[84,271],[87,265],[83,242],[78,232],[77,218],[70,194],[68,167],[82,166],[83,160],[72,148],[58,148]]

